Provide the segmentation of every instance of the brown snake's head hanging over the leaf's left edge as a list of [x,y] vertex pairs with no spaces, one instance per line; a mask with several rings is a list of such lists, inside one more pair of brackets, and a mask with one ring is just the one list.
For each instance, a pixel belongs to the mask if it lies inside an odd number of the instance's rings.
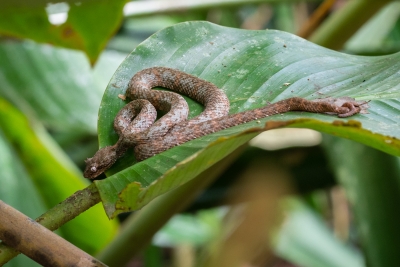
[[117,159],[116,146],[106,146],[97,151],[92,158],[85,160],[86,168],[83,172],[83,176],[94,179],[109,169]]

